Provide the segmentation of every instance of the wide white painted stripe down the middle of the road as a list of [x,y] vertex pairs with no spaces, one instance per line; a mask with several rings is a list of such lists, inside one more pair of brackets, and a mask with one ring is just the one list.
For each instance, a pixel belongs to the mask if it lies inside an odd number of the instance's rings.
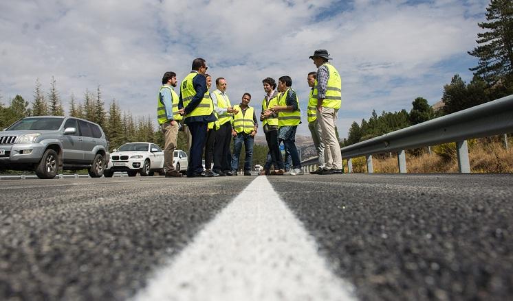
[[356,300],[352,291],[259,176],[135,300]]

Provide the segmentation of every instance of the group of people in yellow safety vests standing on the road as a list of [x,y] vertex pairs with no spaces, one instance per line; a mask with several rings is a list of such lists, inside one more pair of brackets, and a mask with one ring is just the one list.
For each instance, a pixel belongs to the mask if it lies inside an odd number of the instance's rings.
[[[342,173],[342,155],[335,132],[341,102],[340,75],[329,64],[331,58],[327,50],[316,50],[309,58],[318,68],[307,76],[312,88],[307,109],[308,128],[312,132],[319,160],[319,168],[311,173]],[[226,94],[228,84],[225,78],[218,77],[215,80],[216,89],[210,93],[212,77],[206,73],[207,69],[206,60],[193,60],[192,71],[179,86],[179,95],[174,91],[177,86],[176,73],[169,71],[162,77],[157,119],[164,133],[166,177],[182,176],[173,166],[173,151],[180,128],[188,136],[188,178],[237,176],[242,145],[245,147],[244,175],[251,175],[254,136],[259,128],[257,114],[249,105],[251,95],[243,93],[240,104],[232,106]],[[261,174],[301,175],[303,170],[295,143],[301,112],[298,96],[292,89],[292,79],[284,75],[276,83],[272,77],[266,77],[262,84],[265,97],[259,120],[269,153]],[[230,152],[232,138],[233,154]],[[279,147],[281,143],[285,146],[285,162]],[[205,168],[202,165],[203,153]],[[271,170],[271,167],[274,169]]]

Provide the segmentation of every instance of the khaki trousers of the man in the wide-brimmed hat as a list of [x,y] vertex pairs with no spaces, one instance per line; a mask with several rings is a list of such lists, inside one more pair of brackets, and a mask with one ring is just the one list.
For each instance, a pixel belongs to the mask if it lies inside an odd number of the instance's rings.
[[342,153],[340,152],[340,144],[337,141],[335,132],[337,123],[337,111],[333,108],[322,107],[320,112],[317,111],[317,122],[320,130],[323,132],[324,154],[326,158],[326,168],[342,169]]

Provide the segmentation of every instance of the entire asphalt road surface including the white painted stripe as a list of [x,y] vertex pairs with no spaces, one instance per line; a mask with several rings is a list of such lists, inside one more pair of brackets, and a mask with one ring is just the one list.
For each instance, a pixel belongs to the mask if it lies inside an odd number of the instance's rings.
[[0,300],[512,299],[512,175],[0,181]]

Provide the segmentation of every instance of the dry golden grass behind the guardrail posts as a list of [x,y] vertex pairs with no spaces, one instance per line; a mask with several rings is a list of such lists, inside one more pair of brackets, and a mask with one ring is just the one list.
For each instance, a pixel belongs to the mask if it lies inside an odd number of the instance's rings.
[[[472,173],[513,173],[513,145],[507,151],[500,141],[490,139],[474,139],[469,141],[470,170]],[[413,156],[406,154],[408,173],[457,173],[458,163],[455,145],[439,145],[433,147],[439,154],[427,152]],[[367,172],[367,161],[364,157],[353,158],[353,172]],[[347,171],[347,162],[344,162]],[[398,173],[397,155],[376,156],[373,158],[375,173]]]

